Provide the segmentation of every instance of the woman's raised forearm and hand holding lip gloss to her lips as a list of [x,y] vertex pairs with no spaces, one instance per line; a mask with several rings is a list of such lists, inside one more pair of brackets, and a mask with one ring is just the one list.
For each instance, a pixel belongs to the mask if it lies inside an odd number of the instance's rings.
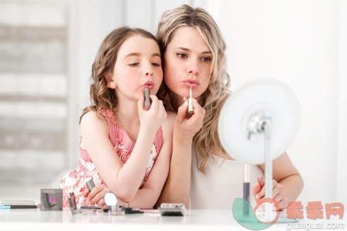
[[189,207],[192,139],[203,126],[205,116],[205,109],[196,101],[193,102],[193,106],[194,114],[189,119],[186,118],[188,105],[183,103],[177,111],[170,171],[156,206],[162,203],[184,203],[186,208]]

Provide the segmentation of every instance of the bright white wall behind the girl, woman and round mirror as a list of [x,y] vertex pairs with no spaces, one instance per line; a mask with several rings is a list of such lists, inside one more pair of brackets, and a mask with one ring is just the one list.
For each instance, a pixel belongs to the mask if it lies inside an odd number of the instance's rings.
[[[342,40],[347,37],[346,2],[79,1],[79,109],[88,104],[92,62],[107,33],[120,25],[143,27],[155,33],[162,12],[182,3],[205,7],[216,19],[227,42],[232,90],[253,79],[270,77],[289,85],[298,96],[302,120],[288,150],[305,180],[298,200],[303,204],[315,200],[342,202],[346,193],[337,198],[336,190],[337,171],[339,182],[346,182],[343,141],[347,128],[343,118],[347,116],[347,96],[343,90],[347,87],[347,52]],[[340,49],[342,46],[344,49]],[[346,192],[346,187],[339,187]]]

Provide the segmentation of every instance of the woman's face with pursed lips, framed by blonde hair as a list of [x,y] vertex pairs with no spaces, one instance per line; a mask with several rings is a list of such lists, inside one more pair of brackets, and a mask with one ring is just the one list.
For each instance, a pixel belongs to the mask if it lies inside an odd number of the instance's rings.
[[211,79],[212,53],[193,27],[181,27],[174,32],[171,42],[164,53],[164,81],[176,103],[183,96],[199,99]]

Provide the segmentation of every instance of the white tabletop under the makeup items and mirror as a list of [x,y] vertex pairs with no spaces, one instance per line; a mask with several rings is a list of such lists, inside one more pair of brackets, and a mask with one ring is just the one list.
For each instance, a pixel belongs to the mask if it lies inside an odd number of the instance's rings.
[[[285,216],[282,211],[280,216]],[[300,221],[301,222],[301,221]],[[318,222],[318,221],[315,221]],[[319,221],[322,222],[322,221]],[[85,211],[72,215],[68,210],[0,210],[0,230],[248,230],[233,217],[231,210],[188,210],[185,217],[162,217],[159,214],[108,215]],[[287,230],[287,223],[274,223],[266,230]]]

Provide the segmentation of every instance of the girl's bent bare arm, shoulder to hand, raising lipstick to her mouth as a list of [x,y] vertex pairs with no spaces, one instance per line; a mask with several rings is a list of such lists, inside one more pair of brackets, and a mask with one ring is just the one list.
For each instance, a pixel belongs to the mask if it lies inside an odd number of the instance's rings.
[[139,113],[143,113],[140,116],[140,132],[133,152],[124,165],[111,144],[105,118],[99,118],[94,111],[90,111],[81,120],[83,146],[101,178],[125,202],[132,200],[138,192],[149,162],[155,132],[166,118],[162,103],[156,96],[151,99],[152,107],[149,111],[140,111],[143,109],[143,96],[138,102]]

